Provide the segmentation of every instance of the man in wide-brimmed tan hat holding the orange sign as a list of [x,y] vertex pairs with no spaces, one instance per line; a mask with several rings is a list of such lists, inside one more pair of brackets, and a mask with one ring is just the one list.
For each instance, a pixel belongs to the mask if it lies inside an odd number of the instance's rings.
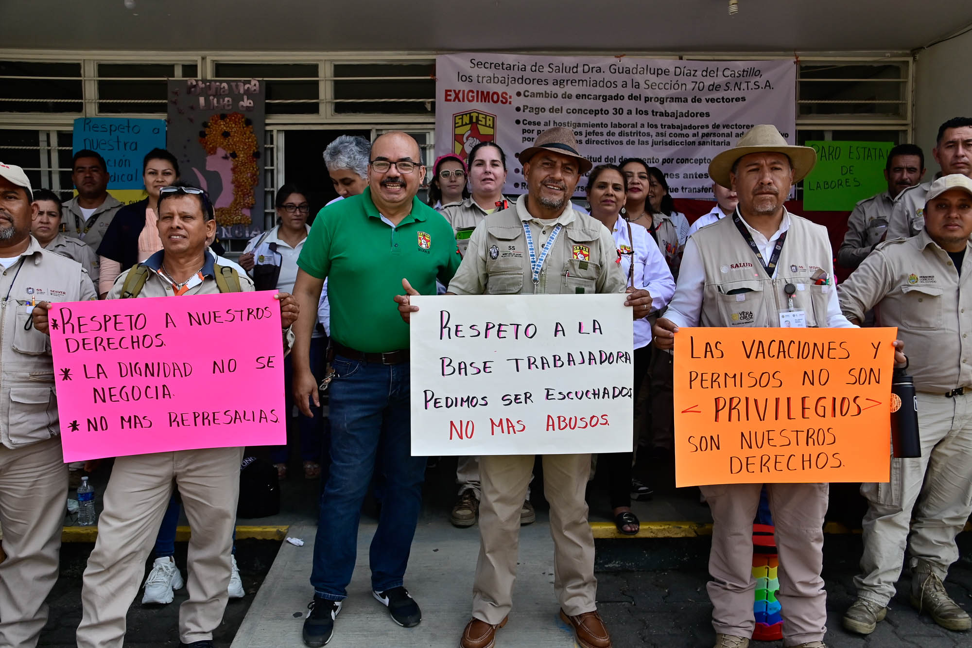
[[[815,162],[814,149],[787,144],[775,126],[754,126],[715,156],[709,174],[736,192],[739,204],[731,217],[688,240],[675,297],[655,323],[659,348],[671,349],[682,326],[853,326],[837,301],[826,229],[783,206]],[[708,590],[717,648],[746,648],[752,636],[752,522],[762,487],[702,486],[714,522]],[[783,643],[822,648],[828,485],[766,488],[780,553]]]

